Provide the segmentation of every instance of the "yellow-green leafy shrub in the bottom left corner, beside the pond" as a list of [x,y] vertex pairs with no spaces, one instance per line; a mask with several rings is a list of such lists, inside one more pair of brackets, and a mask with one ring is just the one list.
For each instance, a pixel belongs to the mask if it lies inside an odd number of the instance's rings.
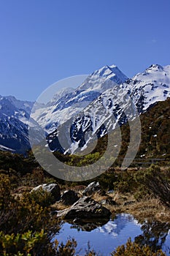
[[28,230],[16,235],[0,232],[0,253],[3,256],[74,256],[76,246],[74,239],[69,239],[66,244],[59,244],[57,240],[50,243],[44,230],[35,233]]

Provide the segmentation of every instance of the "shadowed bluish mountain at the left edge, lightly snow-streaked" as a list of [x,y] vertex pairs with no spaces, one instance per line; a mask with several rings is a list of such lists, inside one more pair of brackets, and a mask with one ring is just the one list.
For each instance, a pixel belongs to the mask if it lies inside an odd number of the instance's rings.
[[[34,102],[24,102],[15,97],[0,97],[0,149],[23,153],[30,148],[28,126],[34,127],[38,136],[35,144],[42,140],[42,130],[30,118]],[[26,111],[28,110],[28,112]]]

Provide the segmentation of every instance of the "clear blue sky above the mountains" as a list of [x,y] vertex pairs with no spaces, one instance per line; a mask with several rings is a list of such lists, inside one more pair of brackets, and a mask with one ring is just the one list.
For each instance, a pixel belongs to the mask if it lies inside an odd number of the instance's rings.
[[170,64],[169,0],[0,0],[0,94],[35,100],[55,81],[116,64]]

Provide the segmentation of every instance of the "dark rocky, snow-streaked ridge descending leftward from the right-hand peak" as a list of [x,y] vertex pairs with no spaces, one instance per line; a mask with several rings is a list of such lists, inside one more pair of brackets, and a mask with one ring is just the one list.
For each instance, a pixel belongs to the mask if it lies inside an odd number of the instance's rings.
[[[98,71],[98,73],[104,75],[106,71]],[[109,72],[107,75],[110,76]],[[105,80],[104,83],[109,84],[110,88],[74,117],[70,122],[70,124],[72,123],[70,130],[67,128],[69,127],[67,120],[66,124],[61,123],[62,132],[54,131],[48,135],[47,140],[52,150],[61,148],[56,140],[57,134],[64,135],[60,139],[62,142],[65,137],[62,151],[73,154],[80,148],[84,149],[87,143],[91,143],[94,135],[97,138],[102,137],[108,131],[115,129],[117,124],[121,125],[132,120],[138,114],[144,113],[155,102],[170,97],[170,66],[152,65],[144,72],[135,75],[134,78],[126,80],[125,83],[116,84],[115,81],[112,83],[112,80]],[[84,83],[80,88],[86,89],[88,86]],[[67,117],[67,119],[71,118],[71,116]],[[104,123],[107,124],[107,127],[104,126]],[[66,127],[65,130],[64,127]],[[91,134],[85,138],[87,132],[91,132]],[[70,140],[68,139],[69,135]],[[67,143],[68,140],[71,141],[71,144]]]

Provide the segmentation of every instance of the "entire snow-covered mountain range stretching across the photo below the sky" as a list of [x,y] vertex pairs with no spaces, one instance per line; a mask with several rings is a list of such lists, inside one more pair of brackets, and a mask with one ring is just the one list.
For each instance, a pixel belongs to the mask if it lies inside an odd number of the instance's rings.
[[[34,127],[35,145],[46,135],[51,151],[74,153],[90,142],[91,135],[96,134],[98,138],[105,135],[104,123],[114,129],[116,124],[122,125],[136,114],[146,113],[156,102],[168,97],[170,65],[158,64],[134,78],[127,78],[115,65],[102,67],[77,89],[62,89],[47,105],[36,105],[32,113],[34,102],[0,97],[0,149],[26,152],[30,148],[28,127]],[[69,120],[72,120],[72,127],[69,127],[72,143],[63,147],[58,145],[58,129],[64,131]],[[88,137],[87,132],[90,132]]]

